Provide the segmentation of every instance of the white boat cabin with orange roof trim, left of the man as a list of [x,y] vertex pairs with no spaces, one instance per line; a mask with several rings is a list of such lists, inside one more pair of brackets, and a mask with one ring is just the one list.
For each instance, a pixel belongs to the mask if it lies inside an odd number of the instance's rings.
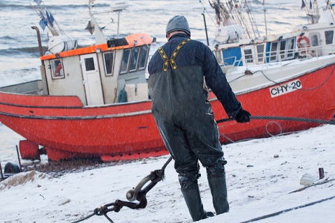
[[[107,40],[107,43],[41,56],[45,95],[76,95],[84,105],[147,100],[145,69],[150,44],[145,33]],[[124,101],[122,101],[124,102]]]

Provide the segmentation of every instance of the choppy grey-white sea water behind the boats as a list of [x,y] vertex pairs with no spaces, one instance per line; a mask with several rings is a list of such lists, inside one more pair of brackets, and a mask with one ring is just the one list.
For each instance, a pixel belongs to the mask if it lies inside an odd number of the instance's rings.
[[[117,13],[104,13],[110,8],[110,1],[95,1],[94,13],[103,32],[108,37],[117,36]],[[42,5],[52,13],[66,35],[74,36],[78,45],[94,45],[94,36],[85,30],[90,20],[87,1],[43,0]],[[301,1],[290,0],[248,1],[253,10],[258,32],[279,34],[291,31],[299,24],[307,22]],[[31,26],[40,29],[43,47],[51,34],[47,28],[39,26],[40,17],[34,1],[11,0],[0,1],[0,86],[18,84],[34,79],[40,79],[40,59],[36,31]],[[149,33],[157,42],[151,46],[150,54],[165,43],[165,25],[174,15],[184,15],[191,28],[191,38],[207,44],[204,29],[205,16],[209,44],[214,44],[216,24],[214,12],[208,1],[197,0],[133,0],[130,6],[119,15],[119,37],[131,33]],[[265,26],[264,21],[267,21]],[[17,163],[16,146],[23,137],[0,123],[0,161]]]

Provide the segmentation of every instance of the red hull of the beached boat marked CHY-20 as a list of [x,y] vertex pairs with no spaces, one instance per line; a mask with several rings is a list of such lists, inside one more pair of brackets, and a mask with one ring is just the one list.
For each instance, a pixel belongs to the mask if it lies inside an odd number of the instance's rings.
[[[269,93],[271,86],[237,95],[237,98],[253,116],[329,120],[335,114],[334,68],[332,64],[294,78],[299,79],[302,89],[275,98]],[[227,118],[218,100],[211,100],[211,105],[216,120]],[[71,157],[119,160],[168,154],[151,115],[150,101],[82,107],[76,97],[0,93],[0,121],[32,145],[44,146],[50,160]],[[267,132],[278,134],[319,125],[298,121],[268,123],[269,120],[219,123],[220,140],[228,143],[227,138],[238,141],[269,137]],[[25,154],[28,147],[22,146],[21,153]]]

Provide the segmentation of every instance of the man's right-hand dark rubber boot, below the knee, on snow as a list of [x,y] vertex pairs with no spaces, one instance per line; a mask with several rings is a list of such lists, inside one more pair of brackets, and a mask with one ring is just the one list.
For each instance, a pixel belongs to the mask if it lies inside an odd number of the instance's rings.
[[208,183],[209,188],[211,189],[211,196],[213,197],[213,206],[216,215],[229,212],[225,175],[208,178]]

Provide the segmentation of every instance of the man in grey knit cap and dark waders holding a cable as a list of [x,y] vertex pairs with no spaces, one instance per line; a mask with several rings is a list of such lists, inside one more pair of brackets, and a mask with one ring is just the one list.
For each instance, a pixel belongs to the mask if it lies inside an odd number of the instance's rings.
[[231,118],[243,123],[250,121],[251,114],[241,108],[209,47],[190,39],[184,16],[172,17],[166,26],[166,37],[168,43],[149,62],[152,114],[174,159],[191,217],[198,221],[207,218],[198,187],[198,161],[207,169],[216,214],[229,211],[224,167],[227,162],[207,100],[207,86]]

